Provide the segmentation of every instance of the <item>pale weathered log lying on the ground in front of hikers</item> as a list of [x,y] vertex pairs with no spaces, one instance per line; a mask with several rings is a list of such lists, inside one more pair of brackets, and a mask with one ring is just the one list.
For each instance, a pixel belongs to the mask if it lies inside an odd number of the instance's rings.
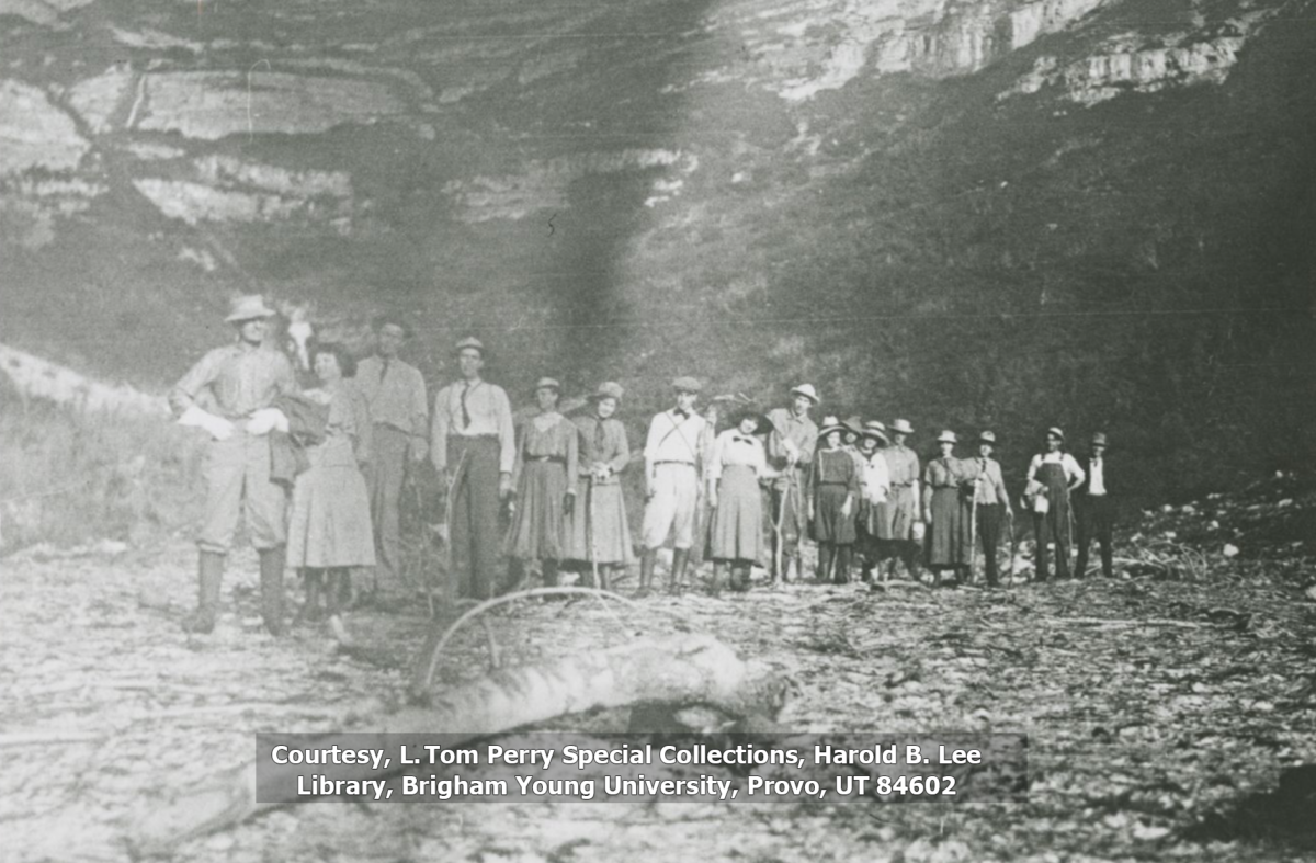
[[[569,656],[519,668],[504,668],[437,695],[426,708],[407,708],[384,717],[374,734],[457,734],[487,737],[597,708],[636,704],[704,704],[733,717],[775,718],[790,681],[767,666],[742,662],[711,635],[674,635]],[[457,745],[453,741],[451,745]],[[361,749],[382,741],[325,738]],[[297,768],[287,768],[290,774]],[[400,770],[400,767],[399,767]],[[329,779],[380,779],[390,771],[368,766],[317,766]],[[396,772],[396,771],[392,771]],[[255,763],[228,771],[183,795],[155,805],[130,837],[142,855],[167,854],[180,842],[237,824],[283,802],[255,801]]]

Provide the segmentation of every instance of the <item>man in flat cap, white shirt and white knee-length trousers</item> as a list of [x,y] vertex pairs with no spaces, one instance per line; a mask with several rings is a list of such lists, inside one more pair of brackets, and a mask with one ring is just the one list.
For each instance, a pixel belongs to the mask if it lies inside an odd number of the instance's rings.
[[645,438],[644,556],[640,559],[640,591],[653,583],[658,549],[672,537],[671,578],[667,588],[678,592],[686,580],[690,547],[695,542],[699,485],[712,445],[712,429],[695,413],[703,389],[695,378],[671,382],[676,407],[655,414]]

